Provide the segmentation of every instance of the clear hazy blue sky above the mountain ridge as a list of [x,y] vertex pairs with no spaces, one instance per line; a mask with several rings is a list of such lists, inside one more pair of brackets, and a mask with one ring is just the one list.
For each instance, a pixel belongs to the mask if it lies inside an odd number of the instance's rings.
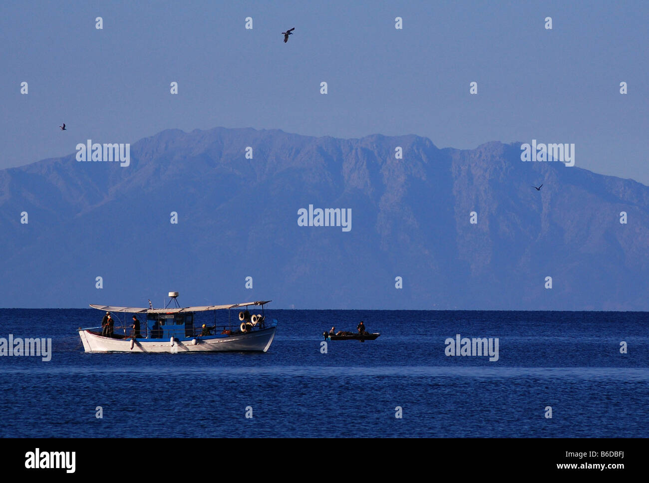
[[649,185],[648,25],[648,1],[3,2],[0,169],[225,126],[575,143]]

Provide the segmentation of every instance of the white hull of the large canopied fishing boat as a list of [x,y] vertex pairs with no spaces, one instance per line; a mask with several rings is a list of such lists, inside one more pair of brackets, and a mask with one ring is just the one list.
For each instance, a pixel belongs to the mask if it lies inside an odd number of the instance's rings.
[[265,352],[275,338],[276,327],[231,336],[199,336],[193,338],[149,339],[110,338],[79,329],[86,352]]

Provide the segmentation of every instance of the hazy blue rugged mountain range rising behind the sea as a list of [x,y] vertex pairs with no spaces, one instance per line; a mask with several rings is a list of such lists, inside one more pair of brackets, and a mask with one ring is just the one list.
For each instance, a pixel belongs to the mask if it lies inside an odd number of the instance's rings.
[[[351,230],[298,226],[310,204],[350,208]],[[71,154],[0,171],[0,306],[159,306],[178,290],[181,305],[646,311],[648,227],[649,187],[522,162],[520,144],[166,130],[131,145],[129,167]]]

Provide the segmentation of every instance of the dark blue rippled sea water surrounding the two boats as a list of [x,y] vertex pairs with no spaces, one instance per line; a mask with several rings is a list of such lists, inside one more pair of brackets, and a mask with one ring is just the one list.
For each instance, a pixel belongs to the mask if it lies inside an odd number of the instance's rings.
[[[0,357],[0,436],[649,436],[643,312],[267,315],[267,353],[86,354],[75,329],[101,312],[1,309],[0,337],[51,337],[53,355]],[[321,353],[361,319],[382,335]],[[499,338],[498,360],[447,357],[458,333]]]

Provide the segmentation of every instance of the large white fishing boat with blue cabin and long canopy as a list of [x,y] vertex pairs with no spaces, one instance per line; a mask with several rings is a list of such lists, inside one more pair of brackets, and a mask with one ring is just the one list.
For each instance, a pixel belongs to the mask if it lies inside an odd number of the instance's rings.
[[[88,327],[77,331],[86,352],[226,352],[258,351],[265,352],[275,338],[277,321],[266,320],[264,305],[267,301],[233,303],[229,305],[205,305],[201,307],[180,307],[178,292],[169,292],[175,307],[165,306],[154,309],[149,301],[149,309],[143,307],[115,307],[95,305],[90,307],[110,314],[113,320],[123,325],[115,327],[108,324],[101,327]],[[171,304],[169,300],[169,304]],[[245,307],[239,311],[238,318],[232,320],[231,309]],[[248,307],[261,307],[261,314],[254,314]],[[195,320],[201,312],[228,310],[227,323],[221,325],[202,324],[195,327]],[[123,320],[120,318],[123,314]],[[126,314],[133,314],[127,320]],[[199,315],[199,317],[197,317]],[[205,321],[206,317],[202,317]],[[144,319],[144,324],[141,324]],[[234,324],[233,324],[234,322]]]

